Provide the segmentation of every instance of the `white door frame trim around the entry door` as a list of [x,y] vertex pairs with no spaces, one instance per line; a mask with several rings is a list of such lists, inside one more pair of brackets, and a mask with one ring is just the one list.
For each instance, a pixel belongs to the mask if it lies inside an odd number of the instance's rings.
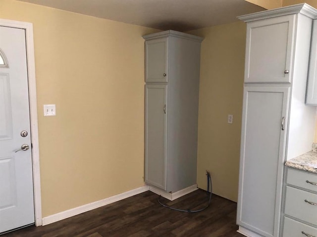
[[34,188],[34,215],[35,225],[42,226],[42,204],[41,204],[41,182],[40,182],[40,156],[39,156],[39,134],[38,115],[36,102],[35,83],[35,60],[32,23],[0,19],[0,26],[14,27],[25,30],[26,57],[28,69],[29,103],[30,103],[30,126],[32,142],[32,168]]

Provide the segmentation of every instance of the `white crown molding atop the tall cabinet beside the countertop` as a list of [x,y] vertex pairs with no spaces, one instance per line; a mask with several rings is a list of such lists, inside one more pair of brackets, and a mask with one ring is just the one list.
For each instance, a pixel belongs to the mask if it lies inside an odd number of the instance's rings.
[[303,14],[312,19],[317,19],[317,9],[308,5],[307,3],[296,4],[292,6],[284,6],[272,10],[266,10],[261,12],[255,12],[243,16],[238,16],[238,19],[244,22],[251,22],[257,20],[263,20],[266,18],[276,17],[276,16],[284,16],[291,14]]

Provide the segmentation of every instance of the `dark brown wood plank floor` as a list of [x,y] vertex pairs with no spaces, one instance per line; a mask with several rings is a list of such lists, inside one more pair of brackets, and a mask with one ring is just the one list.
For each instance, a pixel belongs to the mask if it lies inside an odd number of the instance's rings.
[[[212,195],[211,206],[187,213],[170,210],[148,191],[47,226],[26,227],[1,237],[243,237],[236,232],[236,203]],[[208,194],[197,190],[163,203],[181,209],[201,209]]]

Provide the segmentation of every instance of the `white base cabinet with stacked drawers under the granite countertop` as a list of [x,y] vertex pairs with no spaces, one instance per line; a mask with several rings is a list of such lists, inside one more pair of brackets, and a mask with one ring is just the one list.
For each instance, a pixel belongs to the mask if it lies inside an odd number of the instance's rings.
[[282,237],[317,237],[317,175],[287,169]]

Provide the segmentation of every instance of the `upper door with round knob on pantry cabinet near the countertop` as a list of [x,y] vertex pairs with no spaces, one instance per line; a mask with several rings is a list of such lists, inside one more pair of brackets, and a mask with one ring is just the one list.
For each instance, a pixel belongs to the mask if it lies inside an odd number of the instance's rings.
[[245,82],[291,82],[295,17],[286,15],[248,24]]

